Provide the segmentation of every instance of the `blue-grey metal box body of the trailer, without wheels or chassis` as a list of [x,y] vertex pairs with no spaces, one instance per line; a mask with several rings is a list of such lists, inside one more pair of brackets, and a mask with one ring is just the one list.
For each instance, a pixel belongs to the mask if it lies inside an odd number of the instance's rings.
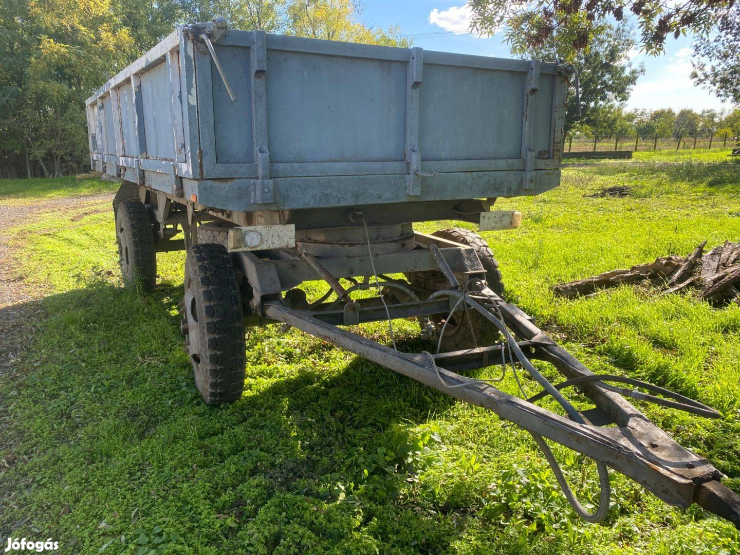
[[556,64],[230,29],[212,45],[225,79],[184,26],[87,99],[92,169],[238,212],[559,184]]

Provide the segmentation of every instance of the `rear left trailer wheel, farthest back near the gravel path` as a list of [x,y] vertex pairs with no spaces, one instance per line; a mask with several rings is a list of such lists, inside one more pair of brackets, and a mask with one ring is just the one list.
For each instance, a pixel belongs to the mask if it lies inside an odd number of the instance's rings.
[[140,201],[123,201],[115,212],[118,263],[127,289],[151,292],[157,280],[157,255],[149,212]]

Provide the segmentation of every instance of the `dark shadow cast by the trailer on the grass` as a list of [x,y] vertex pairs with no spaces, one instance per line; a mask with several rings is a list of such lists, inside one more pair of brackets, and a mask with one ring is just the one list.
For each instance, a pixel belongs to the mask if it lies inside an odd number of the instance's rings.
[[271,326],[248,339],[243,397],[205,406],[179,300],[180,286],[142,298],[97,283],[42,301],[29,350],[0,377],[1,530],[82,552],[114,535],[130,551],[157,526],[196,550],[448,547],[454,519],[403,491],[414,427],[456,401],[313,338],[280,346]]

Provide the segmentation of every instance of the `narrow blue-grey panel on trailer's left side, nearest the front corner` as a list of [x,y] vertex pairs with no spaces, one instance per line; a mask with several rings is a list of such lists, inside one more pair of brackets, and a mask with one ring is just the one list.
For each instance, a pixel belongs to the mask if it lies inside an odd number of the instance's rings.
[[175,159],[172,135],[172,90],[164,61],[141,73],[141,100],[144,107],[144,137],[147,157]]

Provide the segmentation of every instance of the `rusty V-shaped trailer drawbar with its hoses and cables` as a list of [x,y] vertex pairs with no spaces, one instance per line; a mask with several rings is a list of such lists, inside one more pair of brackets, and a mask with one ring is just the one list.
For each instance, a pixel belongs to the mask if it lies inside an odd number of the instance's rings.
[[[372,300],[369,300],[370,306],[367,308],[362,306],[363,300],[350,300],[349,303],[359,305],[356,309],[359,316],[357,323],[382,320],[386,314],[391,319],[429,315],[440,312],[444,307],[445,312],[449,312],[447,321],[454,313],[461,313],[461,320],[464,321],[468,311],[477,312],[499,329],[500,342],[460,351],[409,354],[337,327],[335,323],[345,321],[345,310],[298,310],[285,306],[279,300],[269,300],[263,305],[263,317],[312,334],[452,397],[488,408],[503,420],[524,428],[544,452],[573,509],[589,522],[599,522],[608,511],[610,493],[606,467],[609,466],[639,482],[670,505],[686,508],[696,502],[707,511],[729,519],[740,529],[740,497],[719,482],[721,472],[706,459],[673,441],[623,396],[708,418],[719,418],[719,412],[649,383],[617,375],[593,374],[537,328],[531,317],[488,289],[485,282],[471,280],[466,283],[465,289],[468,290],[463,290],[445,259],[435,258],[440,262],[443,274],[451,277],[451,289],[440,289],[425,301],[400,305],[383,301],[386,306],[382,310]],[[378,279],[376,283],[390,286],[388,289],[394,287],[394,280],[390,278],[382,282]],[[337,303],[334,303],[336,306]],[[531,360],[551,363],[566,380],[550,383],[537,371]],[[540,394],[521,399],[500,391],[491,381],[460,374],[461,371],[494,365],[513,367],[514,364],[522,366],[542,386]],[[633,388],[609,383],[622,383]],[[577,386],[595,407],[577,411],[560,393],[571,386]],[[651,393],[638,391],[638,387]],[[547,395],[554,397],[567,417],[534,404]],[[543,438],[596,461],[601,488],[596,511],[589,513],[579,504]]]

